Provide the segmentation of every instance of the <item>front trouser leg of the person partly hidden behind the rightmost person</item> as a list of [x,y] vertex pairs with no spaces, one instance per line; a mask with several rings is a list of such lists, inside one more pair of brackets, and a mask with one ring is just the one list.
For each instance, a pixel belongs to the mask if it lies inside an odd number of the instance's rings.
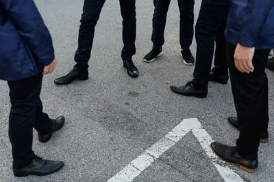
[[226,20],[228,9],[228,4],[208,4],[208,0],[202,1],[199,18],[195,27],[197,53],[192,84],[197,89],[208,88],[214,53],[214,39],[219,27]]

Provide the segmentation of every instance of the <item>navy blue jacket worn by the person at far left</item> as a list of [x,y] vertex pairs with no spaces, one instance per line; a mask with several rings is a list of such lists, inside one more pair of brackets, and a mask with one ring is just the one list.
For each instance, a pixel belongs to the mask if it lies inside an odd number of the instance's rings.
[[54,59],[49,30],[33,0],[0,0],[0,79],[41,74]]

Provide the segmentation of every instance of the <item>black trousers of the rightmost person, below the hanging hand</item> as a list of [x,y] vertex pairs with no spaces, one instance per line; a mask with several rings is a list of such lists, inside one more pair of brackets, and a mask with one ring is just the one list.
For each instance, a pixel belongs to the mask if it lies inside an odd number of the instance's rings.
[[234,64],[236,46],[227,43],[227,59],[240,136],[236,142],[242,157],[258,158],[261,132],[267,132],[269,123],[268,82],[264,72],[270,50],[256,50],[252,63],[254,71],[242,74]]

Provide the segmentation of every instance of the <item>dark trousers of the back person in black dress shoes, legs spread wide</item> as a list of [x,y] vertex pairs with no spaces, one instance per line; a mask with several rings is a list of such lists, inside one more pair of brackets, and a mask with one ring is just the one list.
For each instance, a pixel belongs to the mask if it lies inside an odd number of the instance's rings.
[[[75,52],[74,70],[87,72],[90,51],[92,49],[95,25],[99,20],[105,0],[85,0],[81,25],[79,28],[78,48]],[[123,17],[123,50],[122,59],[132,59],[135,55],[136,12],[135,0],[120,0]],[[107,29],[105,31],[108,31]]]

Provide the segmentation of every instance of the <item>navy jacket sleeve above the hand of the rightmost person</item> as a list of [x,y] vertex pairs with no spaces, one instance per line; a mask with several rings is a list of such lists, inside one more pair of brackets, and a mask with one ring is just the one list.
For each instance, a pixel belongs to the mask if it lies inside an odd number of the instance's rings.
[[246,0],[246,3],[247,8],[245,16],[242,17],[239,43],[242,46],[254,47],[264,22],[274,5],[274,0]]

